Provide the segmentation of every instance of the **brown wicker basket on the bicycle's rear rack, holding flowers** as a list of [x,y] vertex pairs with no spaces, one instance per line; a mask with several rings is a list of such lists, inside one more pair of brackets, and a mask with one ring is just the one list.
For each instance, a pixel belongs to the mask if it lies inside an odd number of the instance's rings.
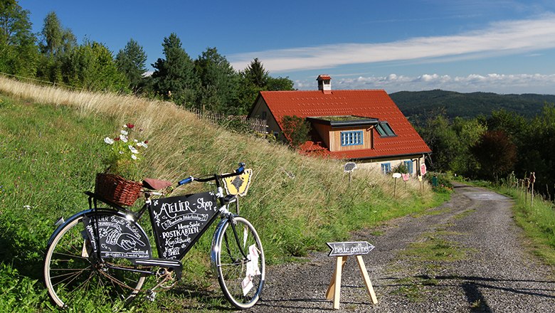
[[96,174],[95,193],[120,206],[132,206],[141,192],[142,184],[115,174]]

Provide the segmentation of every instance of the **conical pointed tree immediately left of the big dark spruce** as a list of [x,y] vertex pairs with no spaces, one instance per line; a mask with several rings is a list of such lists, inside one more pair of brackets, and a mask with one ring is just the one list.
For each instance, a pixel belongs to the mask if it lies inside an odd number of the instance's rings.
[[143,75],[147,72],[147,53],[133,38],[129,39],[125,48],[117,53],[115,58],[117,69],[122,72],[133,92],[138,92],[143,85]]

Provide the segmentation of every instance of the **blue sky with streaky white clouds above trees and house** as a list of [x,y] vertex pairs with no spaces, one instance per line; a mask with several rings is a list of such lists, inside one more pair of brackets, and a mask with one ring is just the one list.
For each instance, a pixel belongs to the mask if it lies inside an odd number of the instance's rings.
[[236,70],[259,58],[300,90],[555,94],[555,1],[19,0],[40,32],[50,11],[78,41],[164,58],[176,33],[191,58],[216,47]]

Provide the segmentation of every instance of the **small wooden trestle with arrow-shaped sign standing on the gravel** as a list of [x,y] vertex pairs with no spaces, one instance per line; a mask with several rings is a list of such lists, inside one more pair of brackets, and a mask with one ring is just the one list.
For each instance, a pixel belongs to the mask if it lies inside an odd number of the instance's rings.
[[362,255],[368,254],[374,245],[367,243],[366,241],[354,241],[354,242],[343,242],[343,243],[326,243],[330,249],[330,257],[337,257],[335,263],[334,275],[332,281],[329,282],[329,287],[327,287],[326,298],[329,300],[334,300],[334,309],[339,309],[339,293],[341,291],[341,273],[345,262],[349,255],[356,256],[356,262],[359,264],[359,269],[366,285],[366,291],[372,300],[372,303],[378,303],[376,298],[376,293],[374,292],[374,287],[370,282],[368,277],[368,272],[366,271],[366,266],[364,266],[364,260],[362,260]]

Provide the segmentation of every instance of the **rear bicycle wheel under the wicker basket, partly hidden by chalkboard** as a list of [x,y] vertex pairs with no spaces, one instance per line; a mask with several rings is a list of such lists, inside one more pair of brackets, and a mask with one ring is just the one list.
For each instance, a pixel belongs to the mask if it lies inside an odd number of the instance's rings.
[[[88,243],[83,235],[84,216],[66,223],[46,249],[44,278],[48,295],[58,307],[73,308],[76,312],[91,304],[95,309],[125,307],[137,296],[147,275],[105,267],[90,256],[83,256]],[[126,259],[104,261],[132,267]]]

